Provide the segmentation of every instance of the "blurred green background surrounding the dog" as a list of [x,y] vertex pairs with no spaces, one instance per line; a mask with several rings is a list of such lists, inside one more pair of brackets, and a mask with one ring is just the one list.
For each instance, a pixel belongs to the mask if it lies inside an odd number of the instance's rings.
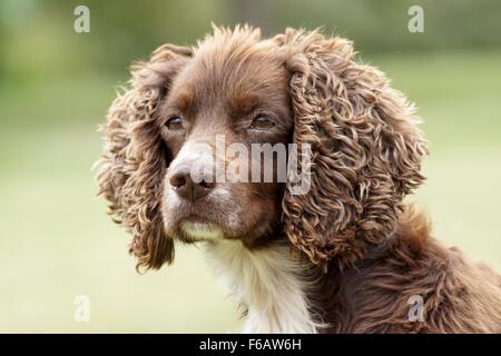
[[[90,9],[90,33],[73,9]],[[410,6],[424,33],[407,30]],[[411,200],[434,235],[501,270],[500,1],[0,0],[0,332],[236,332],[236,305],[196,248],[139,276],[128,236],[105,215],[96,132],[130,61],[194,44],[210,22],[265,34],[322,26],[355,41],[418,103],[431,141]],[[90,322],[73,300],[90,298]]]

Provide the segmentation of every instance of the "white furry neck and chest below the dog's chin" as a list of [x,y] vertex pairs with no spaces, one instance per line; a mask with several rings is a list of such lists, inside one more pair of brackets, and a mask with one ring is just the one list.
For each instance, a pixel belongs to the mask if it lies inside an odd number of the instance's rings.
[[246,309],[244,333],[318,333],[325,327],[308,303],[313,274],[276,243],[249,250],[240,241],[206,243],[215,273]]

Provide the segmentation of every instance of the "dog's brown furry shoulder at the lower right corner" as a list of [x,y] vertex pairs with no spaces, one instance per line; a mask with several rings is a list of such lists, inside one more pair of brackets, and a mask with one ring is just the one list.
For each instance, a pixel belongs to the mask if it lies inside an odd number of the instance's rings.
[[412,209],[395,234],[342,274],[340,299],[354,333],[501,330],[501,277],[431,236]]

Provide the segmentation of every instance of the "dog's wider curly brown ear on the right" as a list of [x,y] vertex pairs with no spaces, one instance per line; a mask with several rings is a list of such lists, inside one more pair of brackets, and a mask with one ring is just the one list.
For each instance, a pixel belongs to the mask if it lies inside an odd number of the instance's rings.
[[291,71],[294,142],[312,151],[308,192],[287,184],[284,228],[313,263],[343,267],[391,236],[424,180],[419,119],[382,72],[354,61],[351,42],[295,30],[274,41]]

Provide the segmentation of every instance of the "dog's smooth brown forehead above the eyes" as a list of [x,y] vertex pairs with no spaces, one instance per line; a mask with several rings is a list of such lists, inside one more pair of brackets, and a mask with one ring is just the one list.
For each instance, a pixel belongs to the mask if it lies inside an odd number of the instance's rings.
[[169,97],[180,108],[223,105],[246,111],[261,101],[285,102],[288,76],[279,58],[262,49],[195,51]]

